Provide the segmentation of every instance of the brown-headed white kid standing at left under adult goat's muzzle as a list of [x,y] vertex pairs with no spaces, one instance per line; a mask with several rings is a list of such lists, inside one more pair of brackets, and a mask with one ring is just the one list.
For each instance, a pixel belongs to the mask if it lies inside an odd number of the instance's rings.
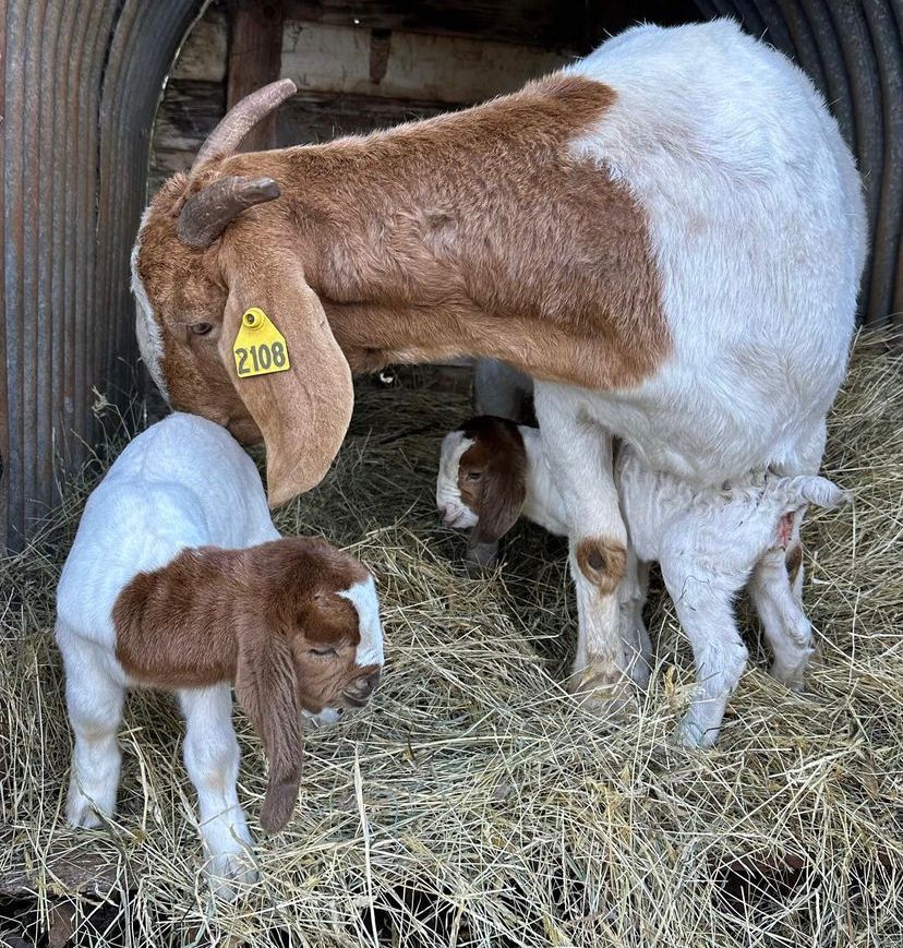
[[112,814],[125,691],[174,691],[188,731],[209,872],[254,879],[238,802],[231,682],[261,735],[261,825],[291,816],[301,716],[366,703],[383,637],[373,577],[323,540],[280,539],[260,475],[217,424],[177,413],[139,435],[88,499],[57,591],[57,643],[75,732],[67,813]]

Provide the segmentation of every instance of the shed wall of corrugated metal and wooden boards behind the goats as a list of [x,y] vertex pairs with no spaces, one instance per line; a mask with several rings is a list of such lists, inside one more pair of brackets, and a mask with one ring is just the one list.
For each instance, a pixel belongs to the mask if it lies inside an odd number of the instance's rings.
[[[146,197],[150,129],[160,88],[202,7],[196,0],[7,0],[0,7],[0,536],[11,549],[22,547],[56,503],[59,478],[85,460],[98,436],[96,400],[123,405],[134,392],[129,251]],[[468,55],[474,56],[481,43],[496,44],[495,56],[484,57],[483,64],[491,72],[504,63],[502,74],[492,80],[482,73],[482,79],[501,88],[506,77],[517,75],[519,82],[520,72],[542,71],[556,57],[585,52],[605,32],[636,19],[674,22],[720,14],[736,16],[750,33],[794,57],[831,104],[857,154],[867,189],[874,250],[862,295],[864,322],[899,325],[900,0],[219,3],[193,34],[195,49],[206,49],[206,64],[192,67],[186,53],[168,85],[152,181],[184,164],[196,140],[222,113],[227,98],[241,94],[230,71],[240,69],[252,84],[269,77],[267,70],[274,64],[254,48],[261,38],[255,17],[270,21],[270,35],[274,16],[285,29],[277,72],[292,75],[302,87],[280,115],[272,140],[312,141],[430,115],[479,97],[472,81],[434,85],[418,94],[416,80],[393,73],[393,46],[398,59],[408,44],[410,64],[430,44],[445,44],[446,56],[453,55],[455,43],[458,55],[461,44],[469,43]],[[305,24],[311,35],[301,38]],[[205,29],[209,43],[196,41]],[[304,44],[311,36],[322,40],[329,29],[335,41],[349,44],[352,60],[366,59],[365,68],[359,63],[359,88],[330,86],[328,49],[321,50],[325,71],[317,75],[313,69]],[[242,51],[241,41],[249,48]],[[278,48],[277,43],[277,60]],[[208,74],[186,77],[192,69],[207,69]],[[186,124],[179,123],[180,115]]]

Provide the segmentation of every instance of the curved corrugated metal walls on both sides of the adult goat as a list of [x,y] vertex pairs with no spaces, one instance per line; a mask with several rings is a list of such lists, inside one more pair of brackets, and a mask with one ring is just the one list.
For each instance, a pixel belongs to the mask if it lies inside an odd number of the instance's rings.
[[[21,547],[85,457],[96,387],[124,400],[129,252],[160,86],[198,0],[0,2],[0,539]],[[875,235],[863,310],[903,322],[901,0],[697,0],[812,76],[853,145]],[[642,3],[637,4],[638,15]],[[895,313],[890,317],[890,313]]]

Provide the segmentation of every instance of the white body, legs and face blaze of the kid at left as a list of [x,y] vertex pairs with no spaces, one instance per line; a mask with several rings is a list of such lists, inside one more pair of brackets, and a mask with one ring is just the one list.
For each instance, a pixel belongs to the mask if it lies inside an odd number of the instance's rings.
[[[63,656],[67,703],[75,734],[67,805],[70,823],[94,827],[113,813],[121,760],[117,732],[125,691],[159,684],[127,673],[120,661],[113,613],[123,590],[142,574],[168,569],[185,556],[200,562],[204,550],[212,548],[222,548],[218,552],[226,557],[233,552],[241,555],[245,548],[249,553],[268,551],[272,563],[274,550],[278,561],[284,551],[299,543],[312,543],[315,551],[322,548],[327,555],[327,544],[322,541],[279,538],[256,467],[226,429],[213,422],[176,413],[136,436],[120,454],[88,497],[57,591],[56,637]],[[314,552],[314,564],[317,555]],[[336,557],[344,556],[336,552]],[[360,564],[358,567],[365,574]],[[240,595],[240,576],[220,578],[220,599],[228,603],[232,595]],[[359,653],[381,665],[382,632],[372,577],[368,574],[357,585],[336,591],[357,610]],[[200,604],[203,611],[204,603],[197,603],[196,598],[203,599],[207,590],[190,592],[195,597],[192,604]],[[257,592],[263,598],[264,590]],[[178,625],[174,603],[172,610],[173,629],[184,631],[185,620]],[[209,622],[215,623],[222,612],[209,615]],[[141,635],[141,613],[135,621]],[[202,651],[214,649],[224,638],[221,629],[205,627],[203,620],[196,633]],[[159,634],[165,638],[167,632]],[[179,660],[183,665],[191,662],[189,656]],[[219,880],[219,893],[228,897],[232,891],[229,879],[249,881],[255,877],[246,852],[253,840],[236,790],[239,748],[231,723],[231,683],[220,680],[172,691],[179,696],[188,725],[184,761],[197,790],[207,868]],[[276,700],[280,696],[269,697]],[[334,710],[324,711],[325,719],[335,715]],[[257,720],[254,724],[260,730]],[[300,730],[300,723],[296,724]],[[300,759],[287,761],[287,766],[300,772]],[[273,771],[270,759],[270,779]],[[291,794],[284,811],[293,802]]]

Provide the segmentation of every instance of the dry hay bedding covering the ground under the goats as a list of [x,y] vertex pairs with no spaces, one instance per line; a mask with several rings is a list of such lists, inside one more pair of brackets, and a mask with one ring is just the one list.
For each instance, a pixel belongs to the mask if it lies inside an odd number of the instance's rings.
[[[468,400],[363,392],[335,469],[278,526],[371,564],[389,667],[372,708],[310,736],[296,818],[261,840],[262,881],[234,904],[196,872],[166,696],[129,701],[115,825],[73,832],[61,818],[70,735],[51,607],[91,476],[74,484],[0,566],[0,878],[24,874],[38,893],[14,903],[20,924],[44,924],[81,874],[99,893],[76,899],[86,945],[901,944],[902,368],[860,343],[832,418],[826,469],[856,501],[805,527],[819,645],[806,694],[764,674],[743,607],[750,668],[706,752],[666,743],[693,673],[660,591],[653,684],[625,722],[600,722],[561,688],[575,621],[561,541],[520,527],[503,568],[474,579],[460,535],[437,526],[438,441]],[[264,763],[237,727],[253,825]]]

